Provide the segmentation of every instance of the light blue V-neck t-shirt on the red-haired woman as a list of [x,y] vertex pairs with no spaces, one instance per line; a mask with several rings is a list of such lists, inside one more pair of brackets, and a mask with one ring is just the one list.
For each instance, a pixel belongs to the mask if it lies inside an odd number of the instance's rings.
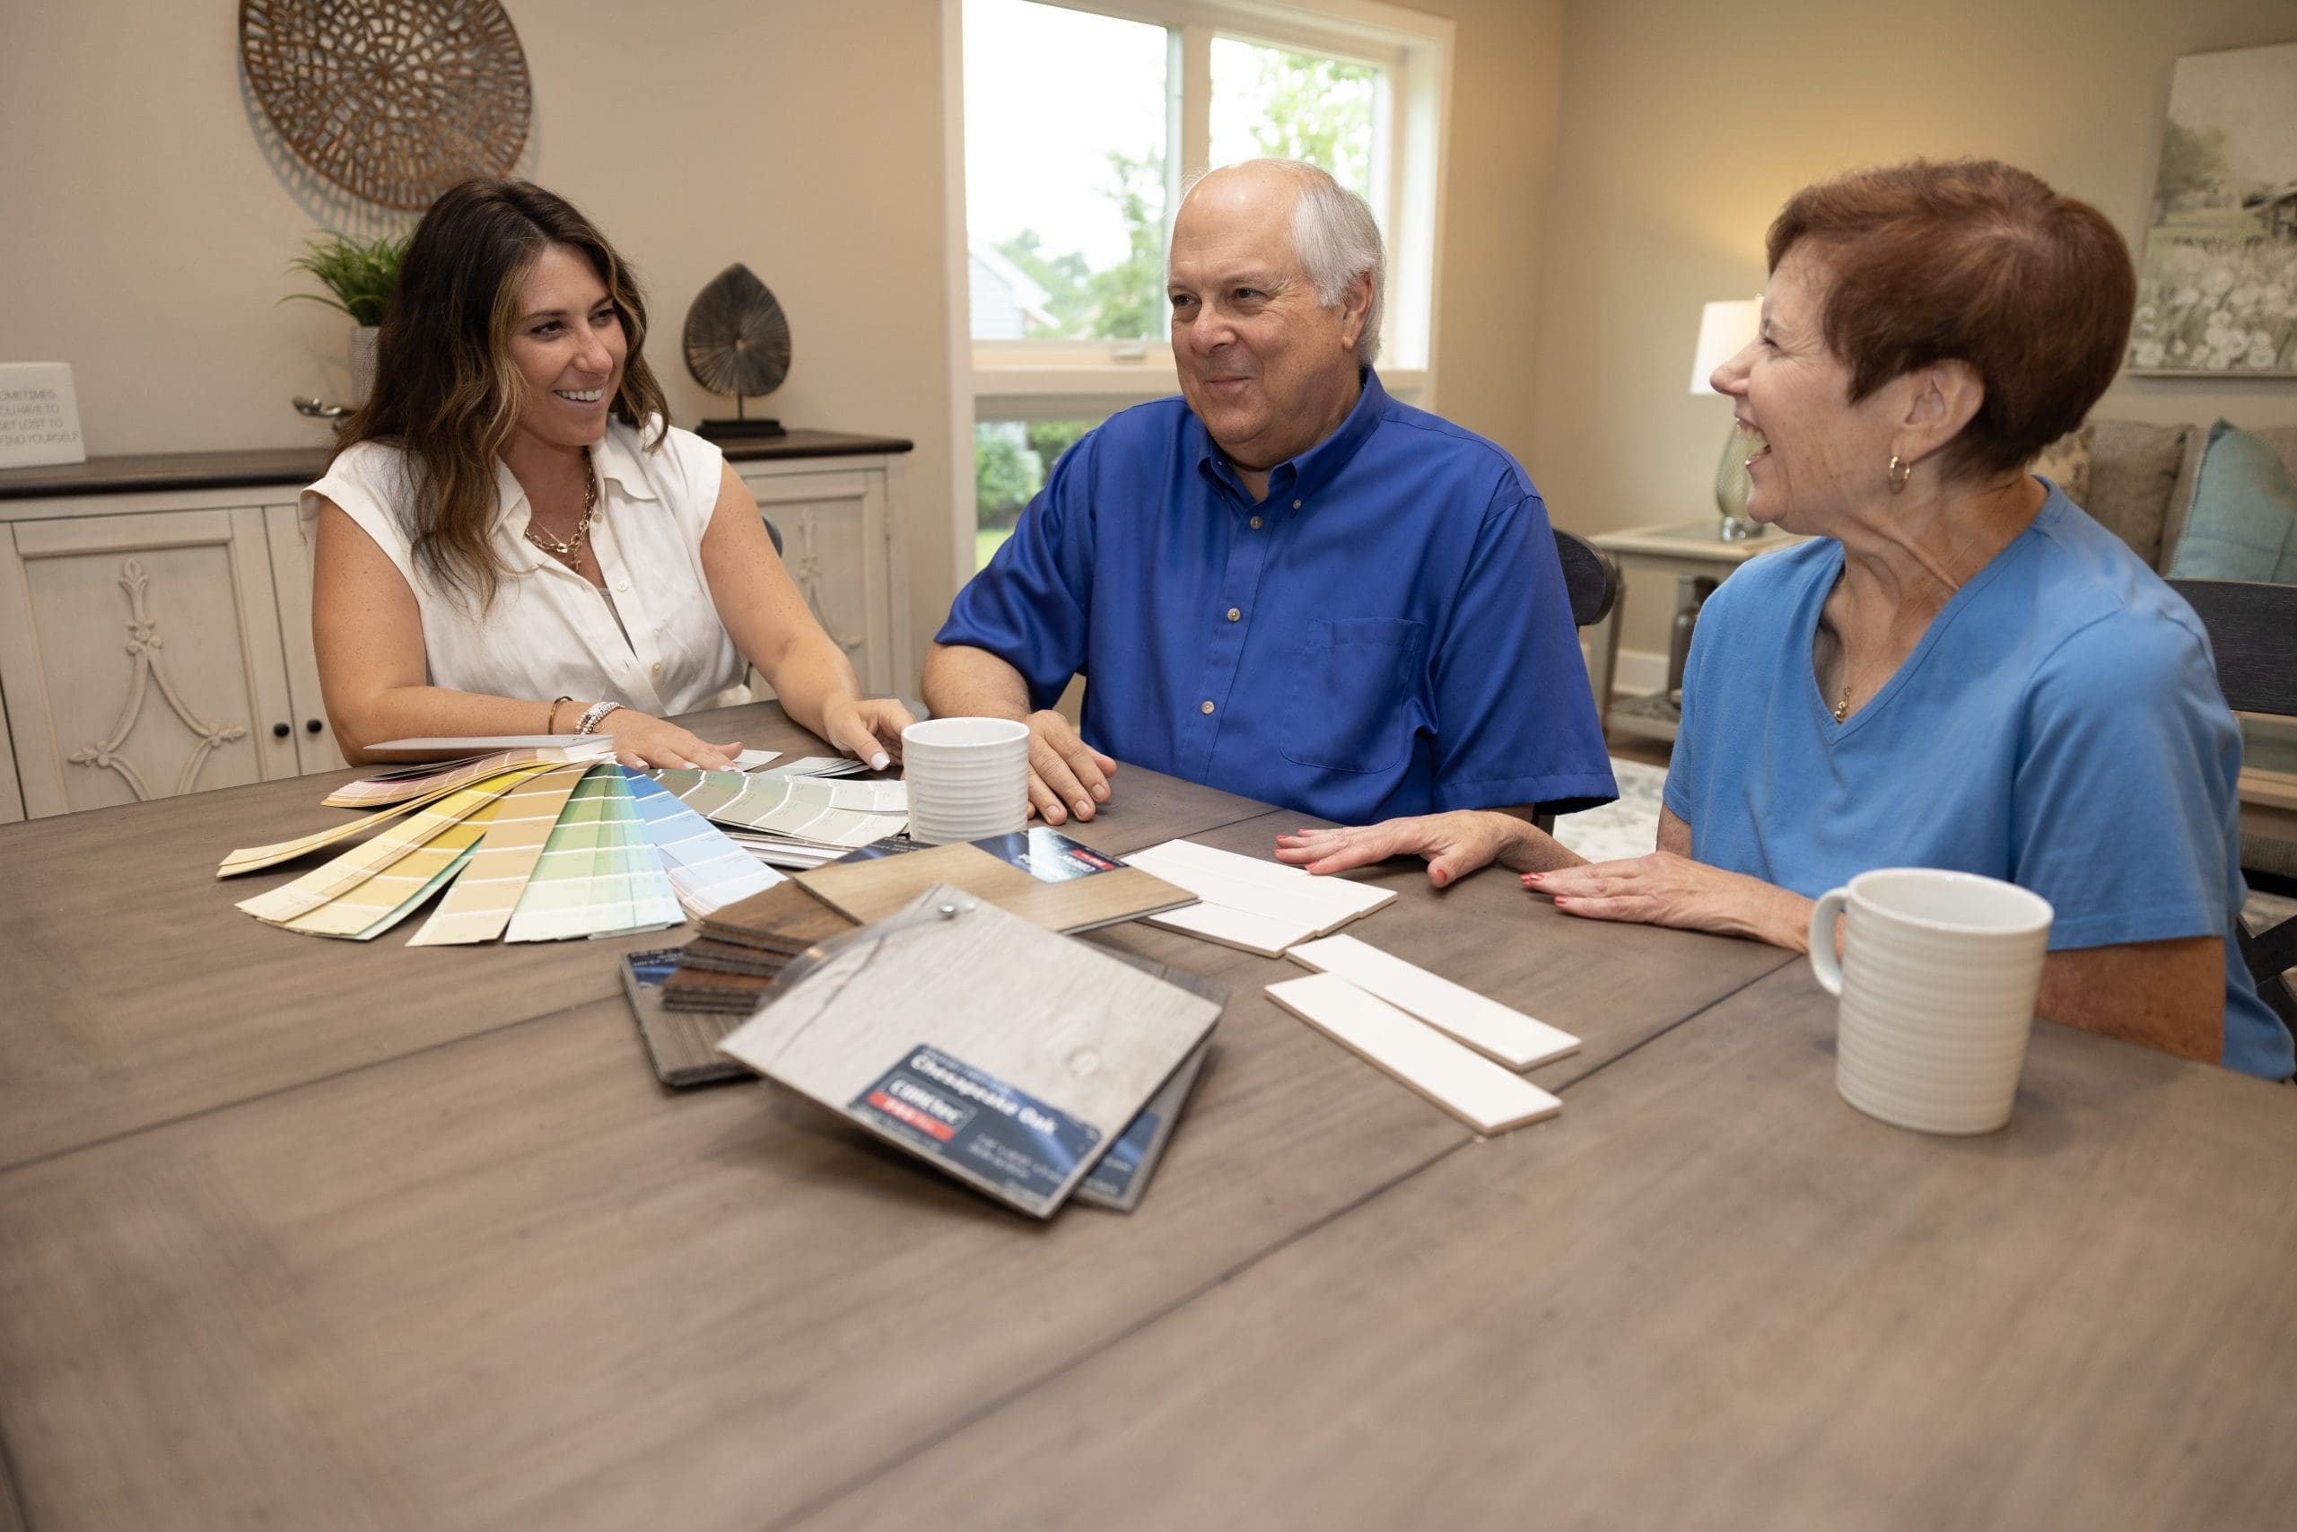
[[1810,652],[1840,572],[1815,537],[1702,609],[1668,767],[1691,854],[1805,898],[1879,866],[1985,873],[2051,903],[2051,951],[2221,937],[2226,1068],[2288,1077],[2233,942],[2242,737],[2194,609],[2051,485],[1835,724]]

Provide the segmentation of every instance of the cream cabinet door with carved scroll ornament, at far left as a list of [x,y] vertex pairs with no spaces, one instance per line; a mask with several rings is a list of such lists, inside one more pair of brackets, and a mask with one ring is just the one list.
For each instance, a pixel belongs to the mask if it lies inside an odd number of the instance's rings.
[[25,813],[296,774],[262,510],[18,521],[7,551]]

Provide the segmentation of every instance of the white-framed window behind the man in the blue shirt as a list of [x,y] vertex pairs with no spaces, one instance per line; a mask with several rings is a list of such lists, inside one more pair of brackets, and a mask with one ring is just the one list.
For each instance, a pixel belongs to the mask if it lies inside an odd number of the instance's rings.
[[1178,388],[1165,243],[1185,177],[1211,165],[1305,158],[1371,204],[1387,239],[1380,379],[1433,404],[1449,21],[1380,0],[944,2],[962,21],[951,296],[974,425],[960,579],[1066,441]]

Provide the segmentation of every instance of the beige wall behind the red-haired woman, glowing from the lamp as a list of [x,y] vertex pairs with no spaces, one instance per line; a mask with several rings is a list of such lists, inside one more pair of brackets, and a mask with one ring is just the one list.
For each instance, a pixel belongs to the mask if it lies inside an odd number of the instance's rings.
[[[1571,0],[1528,457],[1555,519],[1704,514],[1730,407],[1691,397],[1700,305],[1760,292],[1799,186],[1865,163],[1989,154],[2095,202],[2136,248],[2180,53],[2288,41],[2290,0]],[[2125,379],[2141,420],[2297,420],[2286,381]],[[1624,641],[1665,648],[1672,579]]]

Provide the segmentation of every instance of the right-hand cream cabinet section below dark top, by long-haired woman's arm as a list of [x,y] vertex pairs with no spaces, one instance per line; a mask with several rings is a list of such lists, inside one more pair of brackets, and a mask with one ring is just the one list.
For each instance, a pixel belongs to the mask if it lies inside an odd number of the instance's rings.
[[900,459],[857,462],[737,462],[735,473],[781,533],[783,567],[854,661],[861,691],[914,696],[910,581],[894,519]]

